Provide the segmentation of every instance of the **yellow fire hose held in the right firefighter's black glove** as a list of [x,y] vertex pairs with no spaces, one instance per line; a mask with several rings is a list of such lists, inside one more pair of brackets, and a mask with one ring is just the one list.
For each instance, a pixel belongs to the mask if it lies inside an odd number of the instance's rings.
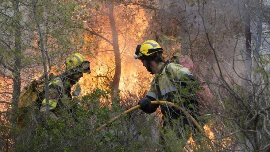
[[[204,137],[207,139],[207,142],[209,143],[209,145],[211,146],[212,150],[213,151],[216,151],[214,145],[212,144],[212,142],[210,141],[209,138],[206,137],[204,131],[203,131],[203,128],[199,125],[199,123],[185,110],[183,109],[182,107],[176,105],[175,103],[172,103],[172,102],[168,102],[168,101],[151,101],[151,104],[163,104],[163,105],[169,105],[169,106],[173,106],[175,108],[178,108],[180,109],[191,121],[192,123],[197,127],[197,129],[200,131],[200,133],[202,133],[204,135]],[[114,117],[113,119],[110,119],[108,121],[108,123],[104,123],[103,125],[101,125],[100,127],[98,127],[97,129],[95,129],[94,131],[92,131],[90,134],[94,134],[96,132],[99,132],[101,131],[104,127],[106,127],[108,124],[111,124],[113,123],[115,120],[119,119],[122,115],[126,115],[138,108],[140,108],[141,106],[140,105],[137,105],[137,106],[134,106],[128,110],[126,110],[125,112],[123,112],[122,114]]]

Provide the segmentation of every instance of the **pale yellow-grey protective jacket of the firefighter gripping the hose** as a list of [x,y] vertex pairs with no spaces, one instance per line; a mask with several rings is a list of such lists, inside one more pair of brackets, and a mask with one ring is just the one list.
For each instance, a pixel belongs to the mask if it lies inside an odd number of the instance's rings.
[[[151,88],[146,94],[146,98],[151,100],[164,100],[175,103],[179,100],[183,101],[183,106],[195,111],[197,103],[194,99],[184,99],[185,96],[179,92],[179,89],[185,88],[186,83],[183,80],[195,80],[189,69],[180,64],[166,62],[155,75],[151,83]],[[176,99],[177,98],[177,99]],[[192,104],[193,106],[190,106]],[[146,113],[153,113],[159,105],[149,106],[148,108],[141,108]],[[179,116],[184,116],[179,109],[166,105],[160,105],[163,115],[169,118],[176,119]]]

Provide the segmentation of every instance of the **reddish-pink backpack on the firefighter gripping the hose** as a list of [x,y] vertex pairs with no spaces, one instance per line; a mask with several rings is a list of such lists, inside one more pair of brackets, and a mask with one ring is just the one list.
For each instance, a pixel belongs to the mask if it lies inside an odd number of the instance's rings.
[[201,77],[199,77],[199,74],[196,71],[193,61],[190,59],[190,57],[188,57],[187,55],[173,56],[169,60],[169,62],[181,64],[183,67],[188,68],[190,72],[195,76],[195,78],[201,83],[196,91],[197,101],[199,103],[199,113],[203,115],[206,113],[206,111],[217,112],[217,105],[214,102],[214,96],[210,92],[210,89],[208,85],[205,83],[205,81]]

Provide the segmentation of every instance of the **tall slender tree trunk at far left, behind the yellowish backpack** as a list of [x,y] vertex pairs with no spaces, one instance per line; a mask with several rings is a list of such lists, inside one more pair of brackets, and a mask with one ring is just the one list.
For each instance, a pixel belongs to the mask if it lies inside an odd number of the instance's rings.
[[16,111],[19,102],[19,96],[21,93],[21,28],[19,25],[19,2],[14,1],[14,19],[15,19],[15,63],[13,66],[13,93],[12,93],[12,104],[13,111]]

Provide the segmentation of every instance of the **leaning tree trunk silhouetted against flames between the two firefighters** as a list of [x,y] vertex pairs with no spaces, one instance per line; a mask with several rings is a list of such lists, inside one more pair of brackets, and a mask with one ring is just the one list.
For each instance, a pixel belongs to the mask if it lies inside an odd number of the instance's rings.
[[121,77],[121,56],[118,44],[118,32],[115,26],[114,20],[114,6],[113,2],[108,3],[109,7],[109,20],[110,20],[110,27],[112,30],[112,37],[113,37],[113,49],[114,49],[114,58],[115,58],[115,72],[114,78],[112,82],[112,101],[116,101],[119,97],[118,88],[119,82]]

